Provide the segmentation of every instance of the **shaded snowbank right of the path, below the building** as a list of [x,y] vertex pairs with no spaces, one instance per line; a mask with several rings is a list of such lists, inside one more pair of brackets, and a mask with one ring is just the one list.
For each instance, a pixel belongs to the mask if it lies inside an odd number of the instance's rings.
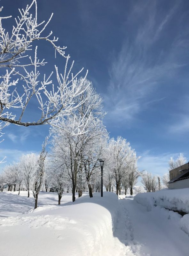
[[154,206],[161,206],[173,211],[189,213],[189,188],[162,189],[156,192],[141,193],[134,197],[139,204],[152,210]]

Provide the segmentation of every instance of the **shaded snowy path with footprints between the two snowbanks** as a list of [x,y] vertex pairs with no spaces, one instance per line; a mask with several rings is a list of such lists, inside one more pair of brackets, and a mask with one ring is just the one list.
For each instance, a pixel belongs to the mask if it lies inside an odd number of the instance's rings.
[[[188,256],[189,236],[160,208],[148,212],[135,200],[119,200],[114,236],[125,244],[125,255]],[[133,253],[133,254],[132,254]]]

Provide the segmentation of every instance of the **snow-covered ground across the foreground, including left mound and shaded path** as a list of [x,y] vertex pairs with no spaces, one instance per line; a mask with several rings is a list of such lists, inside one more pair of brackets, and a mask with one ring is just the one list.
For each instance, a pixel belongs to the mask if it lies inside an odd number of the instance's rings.
[[104,192],[103,198],[100,193],[85,195],[74,203],[65,194],[61,205],[57,197],[40,193],[34,211],[32,195],[0,193],[2,255],[188,256],[189,236],[177,225],[178,213],[169,218],[168,210],[148,211],[132,198],[118,200],[112,192]]

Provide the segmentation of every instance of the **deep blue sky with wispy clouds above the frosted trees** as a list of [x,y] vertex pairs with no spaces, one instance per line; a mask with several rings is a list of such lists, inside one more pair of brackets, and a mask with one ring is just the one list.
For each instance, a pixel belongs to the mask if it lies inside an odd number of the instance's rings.
[[[27,3],[1,0],[2,15],[15,17]],[[51,12],[46,32],[67,46],[76,68],[89,69],[108,112],[106,128],[130,141],[142,156],[139,169],[162,175],[170,156],[188,157],[189,1],[38,0],[38,19]],[[48,129],[9,125],[0,154],[11,162],[39,151]]]

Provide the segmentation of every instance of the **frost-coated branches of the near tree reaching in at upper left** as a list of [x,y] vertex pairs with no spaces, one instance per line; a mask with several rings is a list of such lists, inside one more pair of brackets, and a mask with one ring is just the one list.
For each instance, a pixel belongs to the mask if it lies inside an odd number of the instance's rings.
[[[4,28],[11,16],[0,17],[0,120],[5,123],[23,126],[51,123],[54,118],[67,115],[77,107],[75,97],[85,90],[78,84],[76,86],[76,78],[83,69],[74,75],[74,62],[69,66],[70,56],[65,53],[66,47],[57,45],[58,38],[52,36],[52,31],[45,34],[52,15],[47,22],[38,21],[37,2],[33,0],[25,9],[19,9],[12,31]],[[63,58],[63,74],[55,66],[56,76],[52,75],[53,71],[42,75],[47,69],[43,67],[47,62],[37,57],[40,41],[42,45],[45,41],[49,43],[55,57],[58,53]],[[35,115],[36,120],[31,120],[27,108],[34,97],[35,107],[40,111]],[[23,118],[25,121],[22,121]]]

